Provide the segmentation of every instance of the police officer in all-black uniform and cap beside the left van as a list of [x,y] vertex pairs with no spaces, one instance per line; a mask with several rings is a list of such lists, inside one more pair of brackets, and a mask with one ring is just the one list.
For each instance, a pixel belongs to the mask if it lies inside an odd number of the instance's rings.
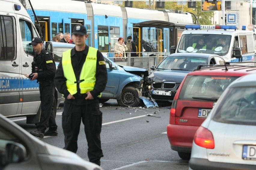
[[[33,38],[29,45],[33,45],[35,56],[32,63],[32,73],[25,76],[30,78],[31,81],[37,79],[41,98],[40,122],[36,124],[37,130],[30,133],[39,138],[44,138],[44,135],[57,136],[58,131],[53,108],[55,91],[53,78],[56,73],[56,65],[52,55],[47,50],[44,50],[43,41],[40,38]],[[49,130],[45,132],[47,122],[49,123]]]

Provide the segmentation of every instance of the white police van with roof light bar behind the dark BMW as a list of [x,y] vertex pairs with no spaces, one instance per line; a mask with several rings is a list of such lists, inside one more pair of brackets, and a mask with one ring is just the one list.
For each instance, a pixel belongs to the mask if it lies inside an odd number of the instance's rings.
[[171,53],[218,54],[229,62],[255,62],[254,33],[244,27],[237,30],[235,25],[185,25],[185,28]]

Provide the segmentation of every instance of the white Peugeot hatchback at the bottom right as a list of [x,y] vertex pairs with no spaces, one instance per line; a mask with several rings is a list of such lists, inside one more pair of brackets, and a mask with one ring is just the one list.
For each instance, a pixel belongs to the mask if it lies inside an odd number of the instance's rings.
[[190,170],[256,169],[256,74],[236,79],[195,133]]

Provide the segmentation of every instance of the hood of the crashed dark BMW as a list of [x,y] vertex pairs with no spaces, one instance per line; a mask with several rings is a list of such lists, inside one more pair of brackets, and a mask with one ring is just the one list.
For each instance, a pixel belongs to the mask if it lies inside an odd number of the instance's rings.
[[149,72],[149,76],[146,78],[148,83],[153,82],[174,82],[180,84],[185,76],[191,71],[155,71]]

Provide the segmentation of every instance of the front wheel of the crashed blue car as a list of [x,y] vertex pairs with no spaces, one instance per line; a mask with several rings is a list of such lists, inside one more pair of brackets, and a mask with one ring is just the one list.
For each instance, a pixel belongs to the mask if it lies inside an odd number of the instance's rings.
[[120,100],[117,100],[117,103],[120,106],[137,106],[139,104],[139,101],[137,100],[138,97],[139,94],[135,87],[125,87],[123,88],[121,98]]

